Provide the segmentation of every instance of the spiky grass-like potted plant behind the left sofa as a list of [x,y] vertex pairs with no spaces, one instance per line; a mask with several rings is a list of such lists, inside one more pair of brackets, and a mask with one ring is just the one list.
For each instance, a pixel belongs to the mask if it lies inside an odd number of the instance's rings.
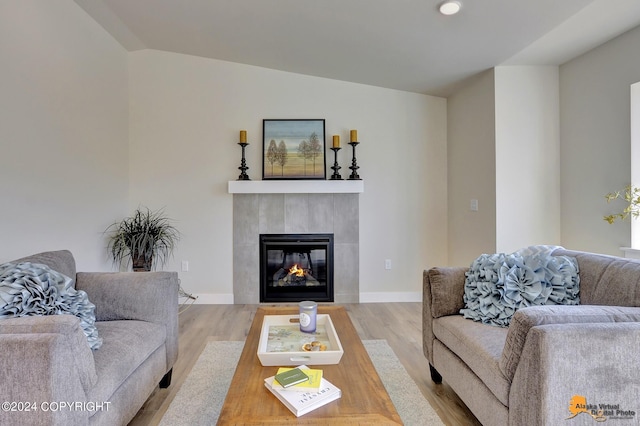
[[164,266],[180,239],[180,233],[171,225],[163,210],[138,208],[131,217],[111,224],[108,250],[114,264],[129,266],[133,270],[150,271],[160,262]]

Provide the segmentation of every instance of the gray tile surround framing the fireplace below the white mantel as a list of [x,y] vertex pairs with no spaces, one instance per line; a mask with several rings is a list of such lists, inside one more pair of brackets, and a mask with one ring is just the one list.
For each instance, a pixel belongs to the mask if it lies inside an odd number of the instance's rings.
[[233,194],[233,298],[260,300],[260,234],[334,234],[334,300],[357,303],[359,289],[359,195]]

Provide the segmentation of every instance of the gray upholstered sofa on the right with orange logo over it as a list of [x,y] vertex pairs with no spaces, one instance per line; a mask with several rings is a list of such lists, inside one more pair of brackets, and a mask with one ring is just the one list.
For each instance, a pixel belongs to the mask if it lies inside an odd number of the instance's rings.
[[444,379],[485,426],[640,424],[640,262],[552,255],[577,259],[581,304],[523,308],[508,328],[459,314],[469,268],[424,271],[432,379]]

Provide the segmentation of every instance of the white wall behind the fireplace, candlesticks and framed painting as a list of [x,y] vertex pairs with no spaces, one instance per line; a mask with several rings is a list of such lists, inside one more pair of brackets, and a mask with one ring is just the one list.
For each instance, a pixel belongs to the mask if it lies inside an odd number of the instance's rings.
[[258,180],[263,119],[324,118],[327,140],[340,134],[346,148],[343,176],[349,129],[361,142],[361,301],[420,300],[422,270],[447,262],[445,99],[153,50],[129,61],[129,205],[175,219],[183,238],[167,269],[190,262],[187,291],[209,302],[232,293],[227,182],[239,174],[238,131],[248,131]]

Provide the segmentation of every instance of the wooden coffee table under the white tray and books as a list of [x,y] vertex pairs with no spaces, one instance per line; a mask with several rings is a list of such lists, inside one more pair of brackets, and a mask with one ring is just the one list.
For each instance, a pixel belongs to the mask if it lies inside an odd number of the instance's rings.
[[318,313],[329,314],[344,349],[339,364],[310,367],[323,370],[323,377],[342,390],[342,397],[304,416],[291,413],[264,387],[264,379],[278,367],[263,367],[257,356],[258,341],[265,315],[291,315],[297,307],[258,308],[227,398],[219,425],[327,425],[386,424],[401,425],[389,394],[384,388],[347,311],[339,306],[319,306]]

